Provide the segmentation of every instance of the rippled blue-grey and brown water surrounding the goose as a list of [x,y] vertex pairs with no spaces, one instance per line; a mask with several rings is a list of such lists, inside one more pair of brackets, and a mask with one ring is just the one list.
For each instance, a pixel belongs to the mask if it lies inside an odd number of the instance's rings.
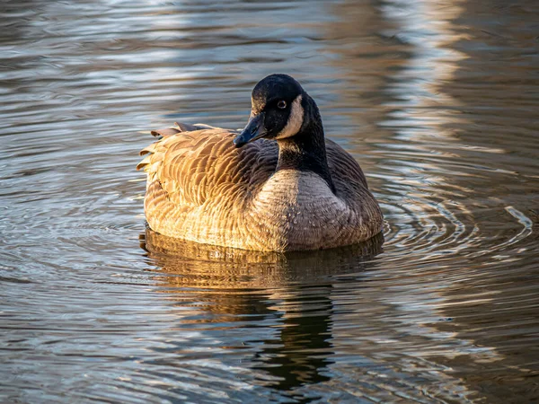
[[[539,400],[536,1],[17,0],[0,28],[1,402]],[[384,245],[145,234],[147,131],[243,127],[275,72]]]

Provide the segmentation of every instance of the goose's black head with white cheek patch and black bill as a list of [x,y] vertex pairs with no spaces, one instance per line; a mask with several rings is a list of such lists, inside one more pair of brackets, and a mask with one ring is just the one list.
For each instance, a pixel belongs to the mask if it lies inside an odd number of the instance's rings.
[[241,147],[253,140],[283,139],[295,136],[305,121],[307,94],[289,75],[269,75],[252,90],[251,118],[242,133],[234,138]]

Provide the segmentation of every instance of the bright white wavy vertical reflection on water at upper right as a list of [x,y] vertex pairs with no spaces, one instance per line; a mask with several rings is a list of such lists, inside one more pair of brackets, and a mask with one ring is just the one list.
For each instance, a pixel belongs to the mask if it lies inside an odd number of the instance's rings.
[[433,136],[453,137],[455,127],[465,123],[455,110],[458,100],[443,91],[455,79],[458,62],[466,57],[455,49],[456,42],[467,38],[455,25],[464,12],[463,3],[394,1],[382,8],[386,18],[399,26],[394,35],[411,45],[410,57],[389,89],[397,100],[390,105],[390,124],[401,127],[399,136],[432,143]]

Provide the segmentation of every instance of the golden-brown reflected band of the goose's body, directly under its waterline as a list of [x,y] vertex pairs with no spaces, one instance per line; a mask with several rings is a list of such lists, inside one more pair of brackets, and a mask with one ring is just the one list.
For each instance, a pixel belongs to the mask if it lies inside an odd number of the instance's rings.
[[382,251],[384,236],[348,247],[298,252],[238,250],[141,234],[141,247],[171,287],[208,289],[282,288],[331,275],[360,271]]

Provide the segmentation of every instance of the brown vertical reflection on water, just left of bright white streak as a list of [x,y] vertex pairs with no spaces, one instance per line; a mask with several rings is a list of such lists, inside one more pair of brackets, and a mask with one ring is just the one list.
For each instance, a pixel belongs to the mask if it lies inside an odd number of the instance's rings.
[[[360,127],[358,137],[384,138],[392,135],[379,126],[380,121],[387,119],[386,105],[392,97],[386,89],[394,72],[406,63],[410,46],[386,34],[397,31],[398,24],[387,19],[373,3],[348,0],[331,4],[331,13],[338,22],[327,23],[324,33],[329,45],[326,51],[335,55],[331,58],[331,77],[338,79],[340,85],[335,91],[339,99],[328,112],[332,119],[346,116]],[[347,141],[351,137],[346,133],[331,136],[342,136]],[[366,145],[362,142],[360,146]]]

